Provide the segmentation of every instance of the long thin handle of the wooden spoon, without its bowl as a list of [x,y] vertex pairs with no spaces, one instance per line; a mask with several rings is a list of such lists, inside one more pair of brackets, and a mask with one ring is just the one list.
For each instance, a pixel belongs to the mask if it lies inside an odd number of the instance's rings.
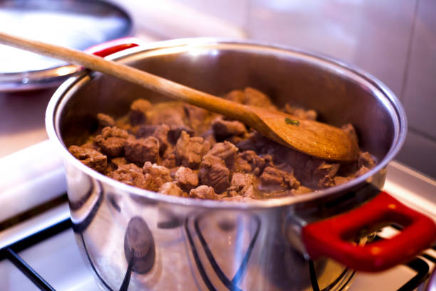
[[250,122],[252,122],[253,119],[250,118],[251,111],[248,111],[242,104],[227,101],[223,98],[197,91],[151,73],[140,71],[137,68],[125,66],[115,61],[109,61],[98,56],[84,53],[83,51],[56,46],[54,44],[46,44],[41,41],[22,39],[18,36],[4,34],[2,32],[0,32],[0,43],[107,73],[108,75],[136,83],[157,93],[162,93],[165,96],[229,116],[230,118],[239,119],[249,124],[251,124]]

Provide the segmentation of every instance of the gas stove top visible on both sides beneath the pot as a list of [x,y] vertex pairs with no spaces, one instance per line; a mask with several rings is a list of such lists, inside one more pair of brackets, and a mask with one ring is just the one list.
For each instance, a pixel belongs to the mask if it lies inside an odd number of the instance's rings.
[[[51,143],[44,141],[0,159],[0,168],[9,169],[9,173],[2,173],[0,205],[10,205],[1,207],[0,213],[1,289],[98,290],[92,270],[83,261],[87,258],[81,257],[76,246],[61,158],[48,153],[53,153]],[[46,162],[38,171],[23,167],[41,155],[46,156]],[[14,167],[21,171],[14,171]],[[435,180],[393,161],[388,165],[384,190],[436,220],[436,201],[432,197]],[[397,231],[395,226],[383,228],[374,239],[389,238]],[[320,289],[313,277],[311,289],[425,290],[435,262],[436,248],[432,247],[385,272],[353,272],[330,289]]]

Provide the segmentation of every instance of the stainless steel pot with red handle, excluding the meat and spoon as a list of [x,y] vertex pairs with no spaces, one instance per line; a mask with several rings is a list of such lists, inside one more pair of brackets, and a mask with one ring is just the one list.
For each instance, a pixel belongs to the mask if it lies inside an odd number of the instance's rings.
[[[250,203],[133,188],[85,167],[66,146],[95,128],[96,113],[122,116],[140,96],[166,99],[84,71],[58,88],[46,126],[65,160],[76,240],[103,289],[340,290],[352,277],[349,267],[383,270],[435,240],[430,219],[378,195],[406,120],[394,94],[367,73],[296,49],[215,39],[147,44],[109,58],[217,95],[254,86],[278,105],[313,108],[335,126],[353,123],[378,165],[336,188]],[[349,242],[391,222],[405,226],[392,240]]]

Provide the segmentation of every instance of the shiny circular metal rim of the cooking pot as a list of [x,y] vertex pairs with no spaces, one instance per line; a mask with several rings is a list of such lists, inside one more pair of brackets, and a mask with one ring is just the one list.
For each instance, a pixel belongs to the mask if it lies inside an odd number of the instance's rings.
[[[339,73],[345,73],[351,78],[358,78],[360,81],[365,81],[368,86],[372,86],[375,91],[378,91],[378,97],[382,97],[383,103],[390,107],[391,117],[393,118],[395,133],[393,137],[392,146],[388,150],[388,153],[383,157],[382,160],[368,173],[361,175],[358,178],[351,180],[350,182],[344,183],[342,185],[335,186],[333,188],[327,188],[325,190],[316,190],[312,193],[290,196],[284,198],[271,198],[267,200],[252,200],[252,201],[217,201],[217,200],[199,200],[194,198],[182,198],[172,195],[165,195],[161,193],[156,193],[150,190],[145,190],[141,188],[136,188],[131,185],[121,183],[117,180],[113,180],[97,171],[88,168],[86,165],[81,163],[76,159],[64,145],[60,134],[58,134],[58,125],[56,124],[58,118],[58,108],[62,108],[62,104],[66,103],[65,98],[68,91],[81,86],[90,77],[90,71],[84,70],[77,76],[68,78],[67,81],[58,87],[55,93],[48,103],[46,110],[46,131],[48,137],[51,141],[56,143],[56,148],[62,154],[64,162],[67,161],[79,168],[81,171],[100,180],[101,182],[110,185],[113,188],[118,188],[119,190],[125,191],[126,193],[132,193],[152,200],[160,200],[165,203],[175,203],[189,206],[196,206],[202,208],[232,208],[232,209],[252,209],[252,208],[275,208],[279,206],[293,205],[296,203],[306,202],[308,200],[316,200],[318,198],[323,198],[328,195],[333,195],[335,193],[341,192],[343,190],[351,189],[360,183],[365,182],[375,173],[386,167],[386,165],[392,160],[395,155],[400,150],[401,146],[405,141],[405,135],[407,132],[407,120],[405,117],[405,111],[395,94],[390,91],[390,89],[385,86],[381,81],[379,81],[374,76],[369,73],[356,68],[355,66],[346,63],[344,61],[332,58],[331,56],[325,56],[322,53],[315,53],[313,51],[303,50],[301,48],[294,48],[292,46],[283,46],[279,44],[267,44],[261,41],[244,41],[244,40],[234,40],[234,39],[217,39],[217,38],[188,38],[188,39],[174,39],[169,41],[158,41],[145,44],[143,46],[137,46],[133,48],[125,49],[125,51],[119,51],[106,58],[113,61],[126,61],[127,58],[137,56],[140,53],[150,53],[150,55],[159,53],[159,51],[167,49],[180,49],[182,51],[187,51],[194,47],[210,48],[211,46],[231,46],[234,48],[251,48],[251,50],[261,49],[264,51],[276,51],[284,54],[299,55],[306,58],[306,61],[312,61],[314,63],[323,64],[326,68],[333,69]],[[148,56],[150,57],[150,56]]]

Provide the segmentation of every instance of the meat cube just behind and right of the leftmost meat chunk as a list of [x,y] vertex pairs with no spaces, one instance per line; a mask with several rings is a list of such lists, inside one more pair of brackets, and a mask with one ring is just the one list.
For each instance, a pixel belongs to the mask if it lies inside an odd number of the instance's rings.
[[123,155],[125,141],[129,133],[121,128],[115,126],[107,126],[103,128],[101,134],[95,136],[95,143],[100,146],[103,153],[111,157],[118,157]]

